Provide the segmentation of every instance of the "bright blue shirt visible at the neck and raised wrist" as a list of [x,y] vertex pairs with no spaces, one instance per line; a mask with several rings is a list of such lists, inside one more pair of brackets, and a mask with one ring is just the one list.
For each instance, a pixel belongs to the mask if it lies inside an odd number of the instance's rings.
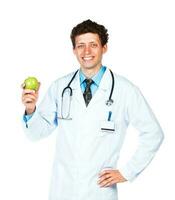
[[[103,74],[106,71],[106,67],[102,66],[100,68],[100,70],[98,71],[97,74],[95,74],[91,79],[94,81],[91,85],[91,92],[92,92],[92,96],[94,95],[94,93],[96,92],[96,90],[98,89],[99,85],[100,85],[100,81],[103,77]],[[85,91],[86,88],[86,83],[84,82],[84,80],[86,79],[86,76],[83,74],[83,72],[80,70],[80,87],[82,92]],[[25,122],[27,122],[28,120],[30,120],[30,118],[33,116],[33,114],[31,115],[25,115],[23,116],[23,120]]]

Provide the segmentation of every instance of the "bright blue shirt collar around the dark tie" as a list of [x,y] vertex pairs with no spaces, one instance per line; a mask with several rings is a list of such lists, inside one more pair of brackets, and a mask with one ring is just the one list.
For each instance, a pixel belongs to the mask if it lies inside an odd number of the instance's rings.
[[[102,66],[99,71],[97,72],[97,74],[95,74],[91,79],[94,81],[94,83],[99,86],[100,85],[100,81],[102,79],[103,74],[106,71],[106,67]],[[83,81],[86,79],[86,76],[83,74],[83,72],[80,70],[80,85],[83,84]]]

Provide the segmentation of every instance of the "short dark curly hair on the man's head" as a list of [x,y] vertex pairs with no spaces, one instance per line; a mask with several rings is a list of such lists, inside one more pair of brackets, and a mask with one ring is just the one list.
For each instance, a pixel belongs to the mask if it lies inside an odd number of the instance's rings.
[[108,42],[108,33],[107,29],[100,24],[97,24],[96,22],[91,21],[90,19],[81,22],[80,24],[77,24],[71,32],[71,41],[73,48],[75,48],[75,37],[81,34],[85,33],[96,33],[98,34],[101,45],[104,46]]

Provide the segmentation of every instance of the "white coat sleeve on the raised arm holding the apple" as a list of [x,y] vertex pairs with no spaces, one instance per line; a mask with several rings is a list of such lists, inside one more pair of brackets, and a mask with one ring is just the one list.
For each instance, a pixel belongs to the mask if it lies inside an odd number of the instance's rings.
[[39,140],[51,134],[57,127],[56,85],[53,83],[33,116],[25,122],[23,129],[30,140]]

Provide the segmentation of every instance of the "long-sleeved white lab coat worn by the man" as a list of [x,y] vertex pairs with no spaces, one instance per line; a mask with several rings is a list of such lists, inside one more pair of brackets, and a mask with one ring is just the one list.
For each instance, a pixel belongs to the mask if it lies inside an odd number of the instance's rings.
[[[149,164],[158,150],[163,132],[139,89],[127,79],[114,74],[114,104],[106,106],[111,90],[107,69],[88,107],[85,106],[79,73],[71,83],[72,120],[61,115],[61,94],[73,73],[56,80],[24,129],[37,140],[57,131],[56,155],[49,200],[116,200],[117,186],[100,188],[98,174],[104,168],[117,169],[120,149],[131,123],[140,132],[137,151],[126,166],[119,169],[129,181]],[[111,121],[107,121],[112,111]],[[115,131],[101,128],[115,127]]]

